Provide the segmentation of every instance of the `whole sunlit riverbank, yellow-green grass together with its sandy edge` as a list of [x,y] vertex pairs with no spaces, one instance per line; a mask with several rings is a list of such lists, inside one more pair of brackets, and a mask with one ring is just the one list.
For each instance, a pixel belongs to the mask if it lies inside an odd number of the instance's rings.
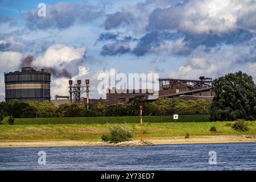
[[[256,122],[246,122],[248,131],[236,131],[233,122],[143,123],[143,140],[154,144],[256,142]],[[47,125],[0,125],[0,147],[89,146],[113,126],[125,126],[133,132],[132,140],[141,136],[139,123],[82,123]],[[212,126],[216,131],[210,131]],[[189,138],[185,139],[185,135]],[[252,138],[243,137],[243,135]]]

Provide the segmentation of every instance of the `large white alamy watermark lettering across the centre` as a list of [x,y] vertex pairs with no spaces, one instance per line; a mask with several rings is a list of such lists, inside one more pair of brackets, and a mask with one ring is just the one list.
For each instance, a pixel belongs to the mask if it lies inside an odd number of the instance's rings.
[[159,96],[158,73],[117,73],[110,69],[110,73],[100,73],[97,77],[100,83],[97,86],[98,93],[148,93],[148,100],[155,100]]

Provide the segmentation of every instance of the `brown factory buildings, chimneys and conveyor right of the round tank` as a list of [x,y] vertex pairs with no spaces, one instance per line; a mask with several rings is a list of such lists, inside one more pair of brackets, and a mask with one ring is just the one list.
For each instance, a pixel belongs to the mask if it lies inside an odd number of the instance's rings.
[[[200,76],[199,80],[184,80],[172,78],[159,78],[159,96],[168,98],[181,98],[183,100],[198,100],[203,98],[205,100],[212,100],[214,92],[212,92],[212,78]],[[82,93],[86,93],[86,98],[81,97]],[[108,88],[106,91],[106,99],[89,98],[89,80],[85,80],[85,85],[81,85],[81,80],[77,80],[73,84],[69,80],[69,96],[55,96],[56,100],[52,100],[55,105],[64,103],[76,103],[84,106],[95,105],[99,102],[106,105],[124,104],[134,100],[134,98],[141,97],[144,100],[149,100],[151,94],[144,93],[142,90],[126,90],[126,92],[119,92],[116,88]],[[57,98],[67,98],[68,100],[57,100]]]

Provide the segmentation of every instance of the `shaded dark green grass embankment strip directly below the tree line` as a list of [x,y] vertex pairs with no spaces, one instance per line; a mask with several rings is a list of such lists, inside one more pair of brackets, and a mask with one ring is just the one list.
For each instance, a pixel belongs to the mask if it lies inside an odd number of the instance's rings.
[[[177,122],[207,122],[209,115],[179,115]],[[143,122],[174,122],[172,115],[143,116]],[[139,116],[127,117],[78,117],[78,118],[18,118],[15,125],[89,124],[89,123],[139,123]]]

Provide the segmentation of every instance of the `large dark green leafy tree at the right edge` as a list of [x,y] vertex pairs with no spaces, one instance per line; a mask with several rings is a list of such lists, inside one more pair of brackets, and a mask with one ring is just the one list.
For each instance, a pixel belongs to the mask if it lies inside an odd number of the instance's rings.
[[213,81],[216,94],[210,107],[211,121],[256,119],[256,86],[246,73],[229,73]]

